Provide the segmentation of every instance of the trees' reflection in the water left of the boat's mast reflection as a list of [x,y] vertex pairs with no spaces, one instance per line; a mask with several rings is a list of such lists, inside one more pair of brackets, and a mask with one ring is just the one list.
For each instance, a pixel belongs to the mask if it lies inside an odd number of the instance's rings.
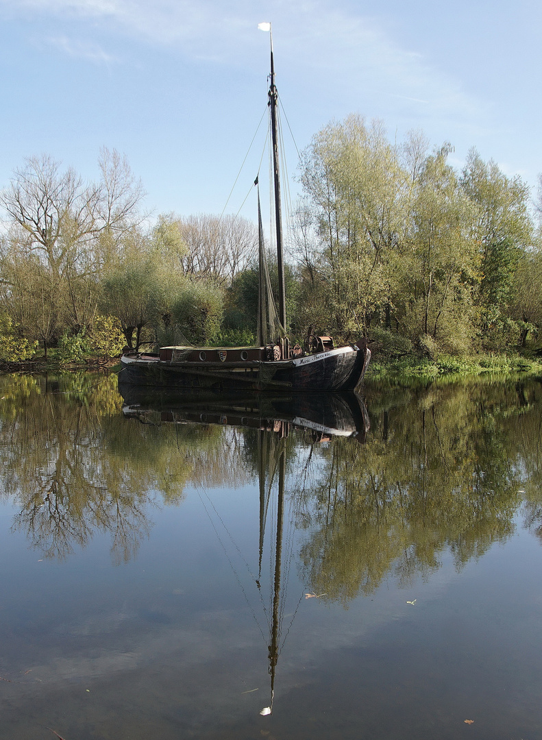
[[115,375],[13,376],[1,394],[3,496],[20,508],[13,529],[47,558],[108,532],[113,561],[127,562],[149,534],[153,505],[180,502],[201,460],[221,460],[218,429],[182,440],[127,424]]

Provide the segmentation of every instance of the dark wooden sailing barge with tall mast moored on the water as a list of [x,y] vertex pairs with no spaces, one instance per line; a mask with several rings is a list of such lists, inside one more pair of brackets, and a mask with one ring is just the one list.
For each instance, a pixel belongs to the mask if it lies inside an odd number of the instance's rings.
[[[335,347],[332,337],[307,337],[304,348],[286,336],[281,185],[278,157],[278,92],[271,38],[268,92],[272,136],[273,193],[278,263],[278,312],[267,272],[258,186],[259,289],[256,347],[161,347],[158,354],[128,351],[122,381],[164,388],[213,390],[353,391],[361,385],[371,352],[364,338]],[[256,178],[255,185],[258,185]]]

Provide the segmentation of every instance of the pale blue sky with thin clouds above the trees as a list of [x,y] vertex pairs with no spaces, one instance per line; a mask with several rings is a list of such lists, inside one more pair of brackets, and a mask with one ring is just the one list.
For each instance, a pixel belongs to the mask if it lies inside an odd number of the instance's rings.
[[41,152],[97,178],[106,146],[127,155],[155,214],[220,213],[266,107],[260,21],[299,149],[359,112],[391,138],[450,141],[458,166],[476,147],[535,186],[539,0],[0,0],[0,186]]

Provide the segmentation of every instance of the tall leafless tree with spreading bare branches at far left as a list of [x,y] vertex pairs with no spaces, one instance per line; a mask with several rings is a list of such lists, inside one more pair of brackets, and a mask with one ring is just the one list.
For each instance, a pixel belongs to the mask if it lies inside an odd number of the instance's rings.
[[[88,326],[96,312],[97,277],[108,255],[121,235],[144,218],[138,212],[144,192],[127,159],[104,148],[98,165],[101,178],[89,184],[73,168],[62,171],[48,155],[30,157],[0,193],[10,221],[4,264],[14,267],[19,261],[41,269],[47,284],[55,286],[55,314],[76,331]],[[17,276],[16,269],[3,272],[4,294],[12,303],[22,300]],[[52,337],[46,333],[40,338],[47,344]]]

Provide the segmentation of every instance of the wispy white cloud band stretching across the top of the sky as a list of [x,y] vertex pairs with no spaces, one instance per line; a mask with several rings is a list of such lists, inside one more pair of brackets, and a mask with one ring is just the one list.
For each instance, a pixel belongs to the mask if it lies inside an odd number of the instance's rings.
[[[458,80],[416,50],[401,47],[374,18],[331,0],[275,0],[259,10],[252,0],[230,0],[227,14],[217,0],[0,0],[0,8],[11,15],[31,10],[33,16],[92,18],[98,27],[103,19],[102,30],[109,33],[116,27],[124,35],[218,64],[247,64],[261,48],[257,21],[271,18],[284,61],[298,70],[318,70],[324,88],[345,100],[383,96],[389,106],[392,98],[404,98],[424,103],[424,115],[433,118],[480,119],[484,113]],[[75,55],[76,42],[66,44],[65,51]],[[97,61],[91,50],[87,58]]]

